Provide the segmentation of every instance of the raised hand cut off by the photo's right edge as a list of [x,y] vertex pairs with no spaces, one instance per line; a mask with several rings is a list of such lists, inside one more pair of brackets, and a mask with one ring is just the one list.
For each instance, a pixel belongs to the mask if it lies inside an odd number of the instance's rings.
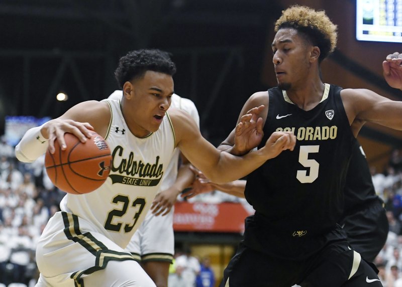
[[389,86],[402,89],[402,54],[395,52],[386,56],[382,62],[385,81]]

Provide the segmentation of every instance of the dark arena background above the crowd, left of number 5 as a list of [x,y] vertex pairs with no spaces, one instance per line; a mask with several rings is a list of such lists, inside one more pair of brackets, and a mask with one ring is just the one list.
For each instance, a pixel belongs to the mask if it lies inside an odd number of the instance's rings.
[[[177,64],[175,91],[218,143],[245,99],[266,88],[265,38],[280,11],[262,0],[2,0],[0,114],[56,117],[105,98],[121,56],[159,48]],[[55,100],[61,90],[68,101]]]

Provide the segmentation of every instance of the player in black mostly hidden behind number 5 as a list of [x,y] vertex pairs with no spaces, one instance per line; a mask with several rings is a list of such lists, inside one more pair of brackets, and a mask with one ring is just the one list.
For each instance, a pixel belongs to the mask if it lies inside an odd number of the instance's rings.
[[[209,181],[194,167],[191,169],[197,179],[182,197],[189,199],[200,193],[220,190],[244,198],[245,180],[217,184]],[[344,193],[345,203],[339,224],[346,232],[351,247],[364,259],[373,262],[385,244],[389,224],[384,203],[375,193],[369,166],[358,141],[353,147]]]

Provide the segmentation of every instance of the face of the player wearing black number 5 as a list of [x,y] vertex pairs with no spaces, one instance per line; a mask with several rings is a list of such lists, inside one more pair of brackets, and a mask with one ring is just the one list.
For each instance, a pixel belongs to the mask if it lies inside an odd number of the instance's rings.
[[295,29],[278,30],[272,42],[272,52],[279,88],[289,90],[305,83],[310,65],[309,46]]

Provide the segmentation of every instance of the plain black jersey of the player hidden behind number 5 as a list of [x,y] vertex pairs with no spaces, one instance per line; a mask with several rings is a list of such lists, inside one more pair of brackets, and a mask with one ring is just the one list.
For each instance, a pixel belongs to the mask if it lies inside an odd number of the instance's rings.
[[367,208],[367,204],[375,200],[380,199],[375,193],[366,156],[356,140],[346,176],[344,215]]

